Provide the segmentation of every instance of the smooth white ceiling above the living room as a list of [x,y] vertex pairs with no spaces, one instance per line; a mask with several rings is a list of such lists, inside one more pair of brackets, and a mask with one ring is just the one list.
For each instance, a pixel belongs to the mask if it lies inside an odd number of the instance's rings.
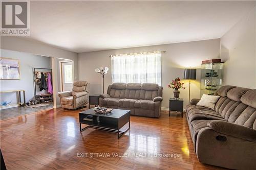
[[254,1],[31,1],[31,40],[72,52],[220,38]]

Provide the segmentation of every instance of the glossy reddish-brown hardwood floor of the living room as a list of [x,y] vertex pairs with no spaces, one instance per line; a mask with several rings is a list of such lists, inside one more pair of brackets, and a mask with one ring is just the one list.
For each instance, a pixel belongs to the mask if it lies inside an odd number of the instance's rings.
[[[7,169],[221,169],[197,160],[186,118],[176,113],[131,116],[130,131],[118,140],[115,133],[96,129],[80,133],[80,111],[52,109],[2,121]],[[155,157],[158,153],[169,157]]]

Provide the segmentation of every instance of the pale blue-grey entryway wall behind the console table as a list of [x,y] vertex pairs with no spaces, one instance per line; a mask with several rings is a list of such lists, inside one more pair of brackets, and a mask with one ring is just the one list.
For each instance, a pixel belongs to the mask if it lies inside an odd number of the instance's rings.
[[[34,96],[33,68],[52,68],[51,58],[10,50],[1,50],[1,57],[18,59],[20,63],[20,80],[0,80],[1,91],[25,90],[26,102],[28,102]],[[44,90],[42,93],[44,93]],[[12,101],[12,104],[15,104],[17,102],[16,93],[2,93],[1,102],[3,101]]]

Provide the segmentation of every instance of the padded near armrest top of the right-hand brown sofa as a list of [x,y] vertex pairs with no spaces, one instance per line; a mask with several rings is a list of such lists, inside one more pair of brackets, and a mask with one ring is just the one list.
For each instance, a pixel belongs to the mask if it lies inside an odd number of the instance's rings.
[[211,120],[207,123],[207,126],[212,130],[224,135],[246,140],[256,140],[256,130],[245,126],[225,122],[223,120]]

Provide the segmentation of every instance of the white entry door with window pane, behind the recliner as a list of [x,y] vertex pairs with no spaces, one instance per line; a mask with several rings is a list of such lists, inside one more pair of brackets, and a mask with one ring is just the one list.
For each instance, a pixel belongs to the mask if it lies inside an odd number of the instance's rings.
[[72,62],[61,62],[62,91],[71,91],[73,88],[73,64]]

